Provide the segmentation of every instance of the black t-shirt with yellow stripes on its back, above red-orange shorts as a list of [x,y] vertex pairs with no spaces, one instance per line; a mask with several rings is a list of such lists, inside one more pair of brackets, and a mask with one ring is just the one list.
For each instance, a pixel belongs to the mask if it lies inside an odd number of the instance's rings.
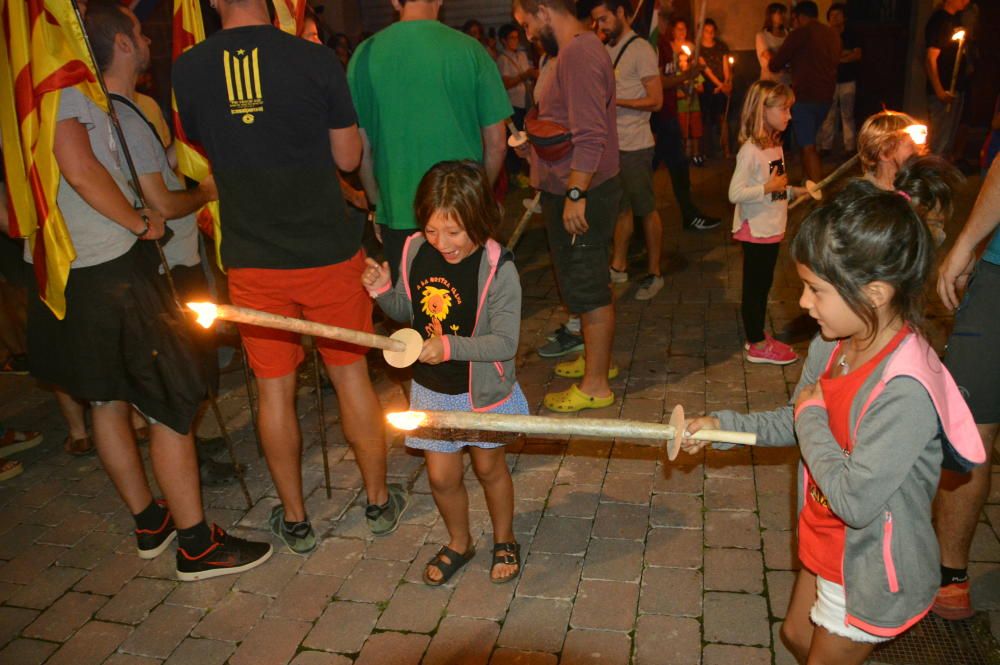
[[326,47],[266,25],[220,30],[177,59],[187,137],[219,187],[222,259],[236,268],[311,268],[351,258],[331,129],[357,123],[344,69]]

